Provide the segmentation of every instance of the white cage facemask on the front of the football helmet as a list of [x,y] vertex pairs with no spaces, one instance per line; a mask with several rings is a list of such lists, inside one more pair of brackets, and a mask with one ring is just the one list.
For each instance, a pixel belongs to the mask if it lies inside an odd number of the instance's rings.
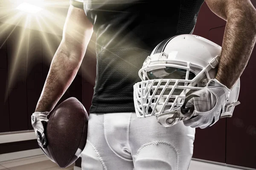
[[[159,56],[167,56],[160,54]],[[157,116],[176,111],[183,106],[186,95],[200,90],[196,81],[202,77],[203,71],[196,76],[190,68],[192,63],[159,57],[145,60],[139,71],[142,82],[134,85],[134,102],[138,117]],[[179,65],[177,65],[179,62]],[[196,67],[196,66],[194,66]],[[204,68],[201,70],[206,71]],[[205,74],[204,74],[205,75]],[[137,105],[137,107],[136,107]]]

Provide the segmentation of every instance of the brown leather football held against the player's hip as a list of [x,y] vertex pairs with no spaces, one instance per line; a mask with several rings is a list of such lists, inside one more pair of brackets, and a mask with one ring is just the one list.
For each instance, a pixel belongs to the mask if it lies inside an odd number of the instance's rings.
[[75,97],[61,102],[52,111],[46,137],[49,153],[59,167],[68,167],[79,158],[86,144],[87,126],[87,111]]

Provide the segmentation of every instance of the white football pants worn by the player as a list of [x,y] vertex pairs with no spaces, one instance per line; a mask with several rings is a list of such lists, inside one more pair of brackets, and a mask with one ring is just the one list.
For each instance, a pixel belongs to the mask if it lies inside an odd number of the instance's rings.
[[82,170],[188,170],[195,128],[163,127],[155,116],[90,113]]

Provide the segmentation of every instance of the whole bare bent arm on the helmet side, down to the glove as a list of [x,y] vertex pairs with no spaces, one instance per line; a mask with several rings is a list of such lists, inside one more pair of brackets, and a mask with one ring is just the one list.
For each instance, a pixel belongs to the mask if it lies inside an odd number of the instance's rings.
[[232,88],[244,71],[256,41],[256,9],[250,0],[205,0],[227,21],[216,79]]

